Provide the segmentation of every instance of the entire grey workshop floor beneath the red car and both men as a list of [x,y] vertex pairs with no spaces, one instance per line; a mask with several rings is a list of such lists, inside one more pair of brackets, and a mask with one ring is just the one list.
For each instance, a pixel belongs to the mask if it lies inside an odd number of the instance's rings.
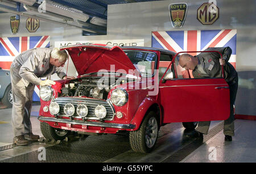
[[[39,103],[34,103],[32,106],[31,122],[32,130],[34,134],[43,136],[40,131],[40,124],[38,121],[38,111],[40,105]],[[212,122],[208,135],[204,135],[204,142],[197,142],[186,138],[186,130],[182,127],[181,123],[171,123],[166,126],[161,127],[160,132],[163,136],[158,138],[156,148],[150,154],[140,154],[134,152],[129,147],[129,140],[127,138],[116,138],[113,135],[104,135],[101,138],[100,143],[111,143],[114,146],[123,146],[123,149],[119,152],[115,152],[114,155],[109,155],[106,158],[107,153],[105,150],[100,150],[97,147],[95,150],[82,150],[81,153],[88,155],[90,151],[96,151],[101,154],[101,158],[95,159],[96,162],[106,162],[106,163],[117,163],[117,162],[153,162],[153,163],[171,163],[171,162],[181,162],[181,163],[218,163],[218,162],[256,162],[256,122],[248,121],[242,119],[236,119],[235,121],[235,136],[232,142],[224,141],[224,134],[222,129],[222,121]],[[220,127],[221,129],[217,129]],[[171,130],[170,130],[171,129]],[[84,145],[75,145],[79,142],[68,142],[66,145],[56,145],[56,143],[46,143],[46,142],[34,142],[30,143],[28,146],[15,147],[13,145],[13,129],[11,126],[11,109],[1,109],[0,110],[0,161],[6,159],[13,159],[10,161],[16,161],[18,158],[19,162],[34,161],[38,162],[37,155],[40,147],[44,147],[48,150],[48,154],[58,152],[68,153],[68,155],[76,155],[71,151],[81,148]],[[108,140],[110,138],[110,140]],[[97,143],[98,137],[92,137],[87,139],[88,143],[92,144],[92,147]],[[107,140],[106,140],[107,139]],[[112,140],[113,139],[113,140]],[[118,142],[120,141],[121,142]],[[86,140],[84,140],[86,141]],[[109,146],[109,147],[112,147]],[[8,147],[10,146],[10,147]],[[51,147],[60,149],[51,150]],[[57,147],[58,146],[58,147]],[[88,144],[89,146],[89,144]],[[1,147],[5,147],[6,149]],[[64,151],[68,147],[68,151]],[[78,150],[80,152],[80,150]],[[34,152],[34,158],[31,153]],[[105,153],[105,155],[104,155]],[[26,156],[24,158],[24,155]],[[77,154],[79,155],[79,154]],[[23,156],[23,157],[22,157]],[[54,155],[53,155],[54,156]],[[104,158],[102,158],[102,156]],[[16,158],[17,157],[17,158]],[[97,155],[94,156],[95,158]],[[28,158],[28,159],[27,159]],[[29,158],[31,158],[29,160]],[[47,156],[48,161],[54,161],[53,157]],[[75,158],[73,158],[75,160]],[[92,160],[92,159],[91,159]],[[7,160],[8,161],[8,160]],[[60,160],[60,162],[63,160]],[[68,160],[72,162],[72,158]],[[86,162],[86,160],[85,160]]]

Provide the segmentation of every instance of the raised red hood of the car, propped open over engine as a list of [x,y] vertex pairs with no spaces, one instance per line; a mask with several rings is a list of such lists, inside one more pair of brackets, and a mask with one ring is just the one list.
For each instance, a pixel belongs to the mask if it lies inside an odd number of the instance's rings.
[[62,47],[61,50],[63,49],[68,51],[80,76],[100,71],[114,71],[140,76],[129,57],[117,46],[88,44],[71,45]]

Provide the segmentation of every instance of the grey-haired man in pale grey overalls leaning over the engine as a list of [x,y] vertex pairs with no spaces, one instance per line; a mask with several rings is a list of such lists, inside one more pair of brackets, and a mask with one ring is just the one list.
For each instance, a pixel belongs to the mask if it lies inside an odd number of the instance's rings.
[[67,77],[63,71],[67,53],[58,48],[33,48],[16,56],[11,64],[11,88],[13,90],[12,123],[14,143],[18,146],[28,144],[28,140],[38,140],[39,135],[32,134],[30,113],[32,93],[35,85],[54,85],[51,80],[40,80],[53,73],[61,79]]

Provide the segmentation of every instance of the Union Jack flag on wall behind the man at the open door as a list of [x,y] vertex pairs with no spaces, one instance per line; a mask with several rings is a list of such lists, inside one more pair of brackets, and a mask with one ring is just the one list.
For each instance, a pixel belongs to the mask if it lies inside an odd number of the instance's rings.
[[[204,51],[208,47],[230,47],[229,63],[236,68],[237,30],[154,31],[152,47],[174,52]],[[198,53],[191,53],[197,55]]]

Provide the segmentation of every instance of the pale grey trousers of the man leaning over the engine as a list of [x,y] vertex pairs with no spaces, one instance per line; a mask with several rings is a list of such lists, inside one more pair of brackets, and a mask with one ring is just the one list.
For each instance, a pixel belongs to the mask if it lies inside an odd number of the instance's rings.
[[11,65],[11,88],[13,90],[13,112],[11,115],[14,136],[24,135],[32,132],[30,121],[32,94],[35,85],[24,85],[19,76],[19,69]]

